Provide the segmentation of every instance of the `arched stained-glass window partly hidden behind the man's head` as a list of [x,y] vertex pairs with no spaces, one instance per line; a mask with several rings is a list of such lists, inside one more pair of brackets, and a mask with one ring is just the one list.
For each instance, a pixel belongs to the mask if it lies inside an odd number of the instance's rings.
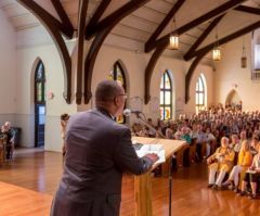
[[[118,61],[113,65],[113,69],[110,71],[110,73],[108,75],[108,79],[112,79],[115,81],[120,81],[125,89],[125,92],[127,93],[126,76],[125,76],[123,69]],[[123,123],[126,123],[126,117],[123,115],[118,116],[117,122],[123,124]]]

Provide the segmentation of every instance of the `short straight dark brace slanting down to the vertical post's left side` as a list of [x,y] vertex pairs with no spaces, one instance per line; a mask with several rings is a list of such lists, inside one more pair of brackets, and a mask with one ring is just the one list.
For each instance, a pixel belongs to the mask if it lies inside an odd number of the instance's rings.
[[68,38],[73,38],[73,34],[74,34],[74,26],[72,24],[72,22],[69,21],[62,3],[60,0],[51,0],[53,7],[55,8],[61,21],[62,21],[62,26],[63,26],[63,30],[62,33],[68,37]]

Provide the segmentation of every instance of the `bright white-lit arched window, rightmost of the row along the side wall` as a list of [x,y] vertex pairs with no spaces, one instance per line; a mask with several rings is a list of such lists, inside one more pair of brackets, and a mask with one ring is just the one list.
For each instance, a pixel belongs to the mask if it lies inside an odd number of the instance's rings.
[[205,110],[206,104],[206,88],[205,88],[205,78],[200,74],[196,82],[196,112]]

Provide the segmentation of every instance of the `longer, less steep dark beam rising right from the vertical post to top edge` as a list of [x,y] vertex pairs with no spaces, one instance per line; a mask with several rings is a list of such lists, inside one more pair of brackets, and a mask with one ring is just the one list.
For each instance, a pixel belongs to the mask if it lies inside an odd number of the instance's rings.
[[151,0],[131,0],[128,3],[120,7],[118,10],[96,23],[94,26],[88,26],[87,35],[88,38],[93,37],[102,29],[106,28],[107,26],[115,26],[119,21],[123,17],[132,13],[134,10],[139,9],[140,7],[144,5]]

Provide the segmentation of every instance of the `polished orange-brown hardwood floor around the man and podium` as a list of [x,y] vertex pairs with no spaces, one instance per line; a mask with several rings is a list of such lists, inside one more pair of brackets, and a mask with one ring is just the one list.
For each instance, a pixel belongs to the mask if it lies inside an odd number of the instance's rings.
[[[62,175],[62,155],[22,151],[0,167],[0,216],[49,215]],[[154,216],[168,215],[168,179],[153,178]],[[125,176],[121,216],[133,216],[133,178]],[[207,188],[207,166],[196,164],[173,173],[172,216],[260,215],[260,200]]]

